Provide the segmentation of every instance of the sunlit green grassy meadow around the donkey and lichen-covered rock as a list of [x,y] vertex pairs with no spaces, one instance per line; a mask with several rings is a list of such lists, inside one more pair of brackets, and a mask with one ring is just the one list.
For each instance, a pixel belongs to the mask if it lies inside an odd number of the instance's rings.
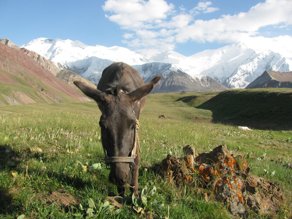
[[[277,183],[284,196],[277,215],[250,212],[248,218],[291,218],[292,169],[286,165],[292,163],[292,130],[242,131],[234,123],[214,123],[216,111],[198,106],[217,94],[148,95],[139,120],[139,191],[151,193],[141,204],[144,213],[105,200],[117,190],[103,163],[96,103],[0,106],[0,218],[236,218],[196,188],[175,186],[151,170],[167,154],[183,155],[186,145],[199,153],[226,145],[245,156],[251,172]],[[162,114],[166,120],[158,119]]]

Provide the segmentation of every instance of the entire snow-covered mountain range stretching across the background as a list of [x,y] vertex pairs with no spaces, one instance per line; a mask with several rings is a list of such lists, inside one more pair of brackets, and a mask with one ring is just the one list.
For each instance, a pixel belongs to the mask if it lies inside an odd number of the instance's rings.
[[243,43],[191,56],[170,51],[146,57],[122,47],[87,46],[69,39],[38,38],[21,47],[35,51],[60,68],[74,71],[95,84],[103,69],[116,61],[134,66],[144,80],[156,74],[163,74],[166,78],[174,72],[187,73],[191,80],[199,81],[208,76],[229,88],[244,88],[266,70],[292,71],[292,59],[269,50],[256,50]]

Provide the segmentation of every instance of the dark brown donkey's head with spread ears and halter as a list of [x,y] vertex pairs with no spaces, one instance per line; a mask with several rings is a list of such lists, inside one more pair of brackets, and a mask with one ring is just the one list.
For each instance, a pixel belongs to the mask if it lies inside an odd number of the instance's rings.
[[97,102],[102,112],[99,125],[105,161],[110,164],[109,180],[118,186],[125,185],[131,180],[131,165],[135,157],[132,150],[135,143],[136,119],[140,114],[139,103],[152,91],[160,78],[161,76],[156,76],[148,84],[129,93],[103,92],[74,81],[81,91]]

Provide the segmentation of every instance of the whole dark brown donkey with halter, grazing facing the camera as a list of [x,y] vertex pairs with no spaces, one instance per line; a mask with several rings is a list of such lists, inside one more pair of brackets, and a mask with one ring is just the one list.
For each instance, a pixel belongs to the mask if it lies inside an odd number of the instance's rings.
[[109,180],[117,185],[121,196],[125,196],[125,185],[129,183],[131,194],[134,193],[139,198],[138,119],[145,106],[146,95],[160,78],[161,76],[156,76],[145,84],[134,68],[126,63],[116,62],[103,71],[97,89],[74,81],[84,94],[97,102],[102,112],[99,126],[105,163],[110,165]]

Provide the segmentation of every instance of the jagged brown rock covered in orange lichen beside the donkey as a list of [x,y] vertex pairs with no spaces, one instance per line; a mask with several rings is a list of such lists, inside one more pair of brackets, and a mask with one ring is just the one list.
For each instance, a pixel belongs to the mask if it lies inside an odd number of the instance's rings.
[[251,210],[263,215],[279,212],[283,204],[280,188],[252,175],[245,158],[234,157],[227,146],[201,154],[187,146],[184,152],[187,155],[181,158],[167,155],[157,171],[177,185],[197,187],[206,201],[210,197],[222,202],[233,215],[245,218]]

